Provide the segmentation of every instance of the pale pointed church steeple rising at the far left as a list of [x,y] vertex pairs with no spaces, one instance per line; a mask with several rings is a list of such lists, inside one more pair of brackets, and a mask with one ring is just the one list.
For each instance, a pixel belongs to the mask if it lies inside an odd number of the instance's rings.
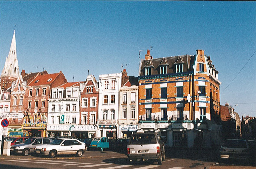
[[19,76],[19,65],[17,60],[16,52],[16,39],[15,39],[15,29],[12,37],[12,43],[8,57],[6,57],[4,69],[2,70],[1,78],[1,88],[7,89],[11,86],[11,83],[18,79]]

